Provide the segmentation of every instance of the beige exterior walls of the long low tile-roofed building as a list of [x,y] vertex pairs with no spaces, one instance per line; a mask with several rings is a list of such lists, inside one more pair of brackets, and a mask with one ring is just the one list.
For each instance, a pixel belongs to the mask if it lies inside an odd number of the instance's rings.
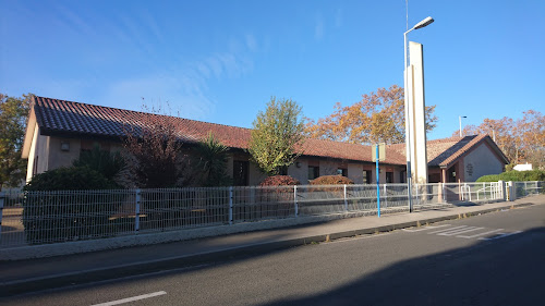
[[[85,147],[84,143],[85,142]],[[62,150],[61,144],[68,143],[70,149]],[[94,143],[100,144],[102,148],[110,151],[120,151],[123,149],[122,144],[110,142],[95,142],[82,140],[77,138],[63,138],[57,136],[44,136],[39,134],[39,127],[36,125],[34,130],[34,137],[31,144],[28,154],[28,168],[27,181],[33,176],[33,173],[43,173],[45,171],[57,169],[60,167],[68,167],[72,164],[73,160],[80,157],[82,148],[89,149]],[[35,167],[36,158],[38,160]],[[227,171],[232,178],[233,175],[233,161],[234,160],[249,160],[249,155],[244,152],[235,152],[229,156],[227,163]],[[308,166],[319,167],[319,176],[335,175],[337,169],[343,168],[348,170],[348,178],[354,181],[355,184],[363,183],[363,170],[371,170],[372,184],[376,182],[376,168],[375,164],[368,162],[343,162],[341,160],[315,158],[315,157],[301,157],[295,163],[288,168],[288,174],[299,180],[301,184],[308,184]],[[380,183],[386,183],[386,172],[393,173],[392,183],[401,183],[400,174],[403,167],[400,166],[384,166],[380,167]],[[470,151],[465,157],[461,158],[451,170],[455,170],[456,181],[474,182],[482,175],[501,173],[505,164],[495,155],[492,148],[486,144],[480,144],[476,148]],[[441,169],[431,169],[429,174],[439,175],[443,181]],[[249,185],[258,185],[266,175],[261,172],[258,167],[252,162],[249,163]]]

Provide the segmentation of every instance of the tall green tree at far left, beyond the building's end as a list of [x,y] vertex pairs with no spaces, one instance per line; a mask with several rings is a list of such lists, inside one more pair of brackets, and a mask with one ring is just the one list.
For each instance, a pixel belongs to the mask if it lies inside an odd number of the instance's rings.
[[26,176],[26,160],[21,158],[31,95],[22,98],[0,94],[0,191],[19,186]]

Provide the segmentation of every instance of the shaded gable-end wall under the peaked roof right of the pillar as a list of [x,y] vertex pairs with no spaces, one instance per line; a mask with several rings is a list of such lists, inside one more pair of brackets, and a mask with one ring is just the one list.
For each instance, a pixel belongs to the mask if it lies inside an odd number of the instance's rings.
[[483,175],[499,174],[504,166],[491,148],[483,143],[463,158],[464,181],[475,182]]

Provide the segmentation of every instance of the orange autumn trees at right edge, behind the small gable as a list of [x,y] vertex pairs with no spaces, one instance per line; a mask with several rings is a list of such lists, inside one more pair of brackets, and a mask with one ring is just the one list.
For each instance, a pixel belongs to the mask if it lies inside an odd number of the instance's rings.
[[462,132],[464,135],[488,134],[511,163],[529,162],[535,168],[545,168],[545,115],[538,111],[524,111],[518,120],[487,118],[480,125],[464,126]]

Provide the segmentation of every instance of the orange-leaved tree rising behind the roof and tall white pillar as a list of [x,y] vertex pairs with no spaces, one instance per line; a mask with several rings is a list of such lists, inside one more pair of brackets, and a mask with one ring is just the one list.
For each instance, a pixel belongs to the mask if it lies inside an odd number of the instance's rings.
[[[435,106],[426,107],[426,132],[436,126]],[[352,144],[404,143],[403,88],[392,85],[363,95],[362,100],[348,107],[337,102],[332,114],[307,119],[306,135],[313,138]]]

